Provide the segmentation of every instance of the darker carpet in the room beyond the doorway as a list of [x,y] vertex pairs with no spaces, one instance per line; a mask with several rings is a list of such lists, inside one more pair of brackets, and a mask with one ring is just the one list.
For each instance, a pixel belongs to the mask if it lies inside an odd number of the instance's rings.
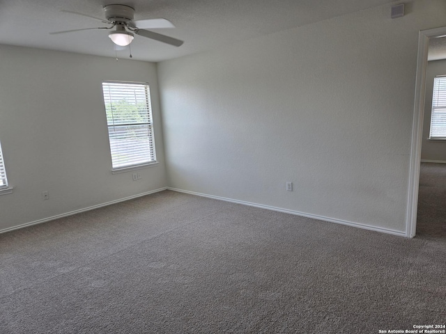
[[417,237],[446,240],[446,164],[421,164]]

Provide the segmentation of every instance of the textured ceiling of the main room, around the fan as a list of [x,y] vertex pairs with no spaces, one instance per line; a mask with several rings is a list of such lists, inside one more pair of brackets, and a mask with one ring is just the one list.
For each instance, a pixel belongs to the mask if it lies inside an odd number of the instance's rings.
[[[133,59],[162,61],[224,47],[240,40],[274,33],[330,17],[391,3],[390,0],[0,0],[0,44],[39,47],[82,54],[115,56],[108,31],[60,35],[52,31],[93,28],[100,22],[63,13],[72,10],[104,17],[102,7],[120,3],[135,8],[134,19],[164,17],[176,29],[157,33],[184,40],[181,47],[136,36]],[[129,50],[117,51],[128,58]]]

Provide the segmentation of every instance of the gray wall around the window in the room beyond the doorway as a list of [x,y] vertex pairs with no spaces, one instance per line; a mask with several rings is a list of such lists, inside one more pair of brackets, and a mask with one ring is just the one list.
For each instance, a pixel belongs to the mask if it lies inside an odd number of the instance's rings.
[[446,74],[446,60],[429,61],[426,69],[426,95],[424,100],[423,137],[421,159],[446,162],[446,141],[429,141],[431,126],[433,78]]

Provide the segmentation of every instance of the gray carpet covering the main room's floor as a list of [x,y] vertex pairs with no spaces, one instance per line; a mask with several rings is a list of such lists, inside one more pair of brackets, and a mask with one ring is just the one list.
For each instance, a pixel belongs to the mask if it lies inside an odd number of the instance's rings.
[[0,333],[444,324],[445,239],[163,191],[0,234]]

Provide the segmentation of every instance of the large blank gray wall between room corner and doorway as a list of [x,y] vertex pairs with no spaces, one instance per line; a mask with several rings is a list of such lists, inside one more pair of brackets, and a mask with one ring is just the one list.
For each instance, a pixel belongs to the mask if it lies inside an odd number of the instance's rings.
[[169,185],[405,231],[418,32],[445,7],[380,6],[160,63]]

